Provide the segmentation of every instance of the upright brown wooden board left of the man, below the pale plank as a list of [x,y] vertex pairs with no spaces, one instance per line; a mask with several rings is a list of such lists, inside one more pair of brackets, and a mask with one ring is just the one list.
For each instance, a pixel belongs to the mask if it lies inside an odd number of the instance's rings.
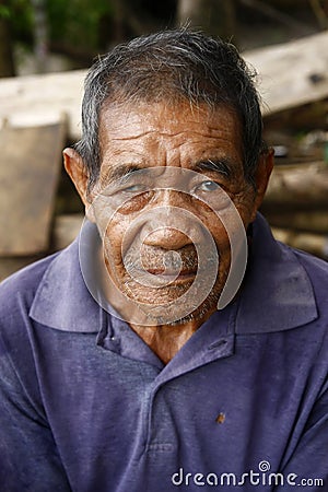
[[56,117],[52,124],[0,130],[0,256],[48,249],[65,128]]

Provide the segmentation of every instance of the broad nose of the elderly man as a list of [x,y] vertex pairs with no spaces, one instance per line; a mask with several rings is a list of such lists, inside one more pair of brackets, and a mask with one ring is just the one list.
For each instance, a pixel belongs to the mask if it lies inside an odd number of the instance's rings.
[[143,243],[163,249],[180,249],[199,236],[196,218],[188,211],[188,196],[172,189],[159,191]]

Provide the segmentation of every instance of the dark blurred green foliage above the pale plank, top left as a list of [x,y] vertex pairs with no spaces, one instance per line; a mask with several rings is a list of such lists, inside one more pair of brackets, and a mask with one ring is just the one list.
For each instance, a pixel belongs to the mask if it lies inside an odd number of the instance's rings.
[[[160,21],[167,25],[176,1],[0,0],[0,19],[9,21],[12,44],[32,49],[36,37],[35,19],[37,13],[44,13],[49,49],[83,66],[113,43],[149,32],[150,26]],[[43,15],[38,15],[40,17]]]

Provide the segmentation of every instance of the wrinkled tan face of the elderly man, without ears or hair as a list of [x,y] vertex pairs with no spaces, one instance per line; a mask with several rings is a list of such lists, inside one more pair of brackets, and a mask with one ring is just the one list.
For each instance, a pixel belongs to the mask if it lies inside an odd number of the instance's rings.
[[181,303],[190,317],[213,312],[231,262],[226,226],[246,229],[257,209],[237,117],[188,103],[108,104],[99,128],[89,215],[112,282],[150,323],[163,323],[167,309],[179,319]]

